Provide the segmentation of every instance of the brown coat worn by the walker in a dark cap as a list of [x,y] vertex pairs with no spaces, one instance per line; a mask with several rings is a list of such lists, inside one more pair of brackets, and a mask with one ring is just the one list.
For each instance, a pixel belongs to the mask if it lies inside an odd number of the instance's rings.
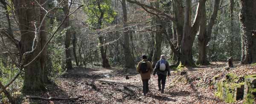
[[[147,73],[142,73],[140,71],[140,64],[143,62],[143,61],[146,61],[147,62],[147,66],[149,68],[149,71]],[[146,59],[143,59],[143,61],[140,61],[137,65],[137,72],[140,73],[140,76],[141,76],[141,79],[144,80],[144,79],[150,79],[150,74],[153,72],[153,68],[152,68],[152,64],[151,62],[147,61]]]

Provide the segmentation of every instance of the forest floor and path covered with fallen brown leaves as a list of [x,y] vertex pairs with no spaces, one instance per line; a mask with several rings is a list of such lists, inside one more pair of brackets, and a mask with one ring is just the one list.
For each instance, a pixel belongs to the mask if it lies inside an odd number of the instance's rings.
[[[208,66],[184,68],[185,75],[172,71],[166,79],[166,90],[161,94],[157,87],[157,78],[151,75],[150,92],[143,96],[142,81],[136,69],[79,69],[76,68],[58,78],[54,84],[47,85],[47,92],[33,95],[41,97],[77,97],[79,100],[42,101],[24,98],[24,104],[225,104],[215,97],[211,85],[215,75],[224,76],[228,72],[255,74],[255,66],[241,66],[225,70],[223,62],[214,62]],[[242,68],[242,70],[241,70]],[[248,71],[250,70],[250,71]],[[241,72],[242,71],[242,72]],[[129,78],[127,79],[128,76]],[[242,104],[237,101],[236,104]]]

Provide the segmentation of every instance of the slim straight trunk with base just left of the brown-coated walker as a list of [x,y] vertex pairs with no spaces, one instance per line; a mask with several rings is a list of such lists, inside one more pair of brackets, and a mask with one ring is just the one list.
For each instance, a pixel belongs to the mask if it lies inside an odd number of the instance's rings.
[[[126,3],[125,0],[122,0],[122,12],[123,12],[123,18],[124,18],[124,25],[123,27],[127,27],[127,9],[126,9]],[[125,55],[125,67],[126,68],[135,68],[134,66],[134,59],[131,55],[130,51],[130,40],[129,40],[129,32],[128,28],[125,28],[125,32],[123,33],[124,37],[124,43],[123,43],[123,50]]]

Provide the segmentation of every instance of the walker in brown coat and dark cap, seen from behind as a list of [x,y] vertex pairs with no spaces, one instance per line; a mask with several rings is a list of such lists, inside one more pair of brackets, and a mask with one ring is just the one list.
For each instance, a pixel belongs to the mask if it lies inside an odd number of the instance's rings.
[[[141,75],[141,80],[143,82],[143,94],[146,95],[149,92],[148,80],[150,80],[150,75],[153,72],[153,68],[152,68],[151,62],[147,61],[147,56],[146,55],[143,55],[142,58],[143,58],[143,60],[140,61],[139,64],[137,65],[137,72],[139,72],[140,75]],[[141,71],[141,64],[143,62],[146,62],[147,68],[148,68],[148,72],[143,73]]]

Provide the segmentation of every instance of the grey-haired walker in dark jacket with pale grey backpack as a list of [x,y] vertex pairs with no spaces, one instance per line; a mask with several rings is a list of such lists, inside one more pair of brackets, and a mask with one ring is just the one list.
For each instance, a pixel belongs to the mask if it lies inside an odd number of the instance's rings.
[[[160,64],[165,64],[165,66]],[[161,67],[161,68],[160,68]],[[164,69],[163,69],[164,67]],[[165,83],[166,83],[166,76],[170,76],[170,66],[168,61],[166,61],[165,55],[161,55],[161,58],[159,61],[157,61],[157,64],[154,68],[154,72],[153,75],[155,76],[157,73],[158,79],[158,91],[161,91],[161,93],[164,92],[164,87],[165,87]],[[156,77],[156,76],[155,76]],[[161,88],[161,84],[162,84],[162,88]]]

